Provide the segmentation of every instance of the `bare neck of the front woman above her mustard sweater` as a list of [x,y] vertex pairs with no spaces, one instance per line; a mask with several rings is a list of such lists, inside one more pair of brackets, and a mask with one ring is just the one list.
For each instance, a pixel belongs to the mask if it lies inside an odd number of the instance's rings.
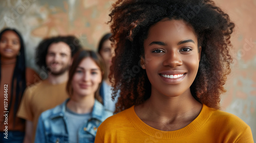
[[201,112],[202,104],[196,101],[189,90],[178,97],[159,96],[152,92],[150,99],[136,108],[141,109],[136,113],[142,119],[150,118],[154,122],[169,124],[195,120]]

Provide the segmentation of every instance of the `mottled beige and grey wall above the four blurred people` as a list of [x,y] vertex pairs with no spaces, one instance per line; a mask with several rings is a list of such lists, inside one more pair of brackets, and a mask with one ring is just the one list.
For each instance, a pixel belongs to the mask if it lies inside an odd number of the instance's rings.
[[0,1],[0,30],[16,28],[26,42],[27,63],[34,67],[35,47],[41,39],[75,35],[86,49],[95,50],[109,32],[111,1],[106,0],[9,0]]

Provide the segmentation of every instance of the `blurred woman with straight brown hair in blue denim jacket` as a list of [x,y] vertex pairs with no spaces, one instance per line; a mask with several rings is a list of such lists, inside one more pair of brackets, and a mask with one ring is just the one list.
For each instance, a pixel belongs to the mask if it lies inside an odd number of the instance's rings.
[[113,113],[105,110],[99,85],[104,63],[92,51],[80,51],[69,70],[70,99],[40,115],[35,142],[94,142],[98,126]]

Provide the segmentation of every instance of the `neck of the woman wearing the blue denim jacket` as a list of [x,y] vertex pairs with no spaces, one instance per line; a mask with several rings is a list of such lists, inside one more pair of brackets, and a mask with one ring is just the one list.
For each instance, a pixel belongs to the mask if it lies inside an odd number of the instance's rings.
[[73,95],[67,103],[67,107],[78,114],[90,113],[93,110],[94,103],[94,96],[80,97]]

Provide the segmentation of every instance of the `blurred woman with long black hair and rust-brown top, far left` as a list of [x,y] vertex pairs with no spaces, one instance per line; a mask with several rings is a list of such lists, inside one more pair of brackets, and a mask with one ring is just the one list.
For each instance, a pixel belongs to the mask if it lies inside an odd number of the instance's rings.
[[[25,121],[17,117],[16,113],[26,86],[39,80],[33,69],[26,68],[24,49],[24,41],[18,31],[9,28],[2,30],[0,33],[0,101],[2,102],[0,142],[23,142]],[[8,116],[4,116],[5,113]],[[6,130],[8,130],[6,134],[8,139],[4,138]]]

